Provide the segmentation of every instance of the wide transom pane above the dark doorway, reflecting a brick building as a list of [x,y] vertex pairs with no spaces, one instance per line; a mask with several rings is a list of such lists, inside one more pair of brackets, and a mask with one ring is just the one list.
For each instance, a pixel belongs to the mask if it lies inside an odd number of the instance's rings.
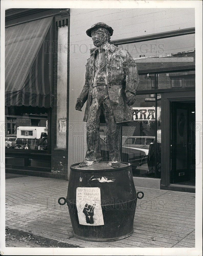
[[158,89],[195,86],[195,71],[158,74]]

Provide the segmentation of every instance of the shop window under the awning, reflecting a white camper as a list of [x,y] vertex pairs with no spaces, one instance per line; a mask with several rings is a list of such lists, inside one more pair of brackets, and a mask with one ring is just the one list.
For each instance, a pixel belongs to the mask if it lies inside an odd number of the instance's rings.
[[45,108],[8,107],[6,112],[6,148],[47,150],[48,113]]

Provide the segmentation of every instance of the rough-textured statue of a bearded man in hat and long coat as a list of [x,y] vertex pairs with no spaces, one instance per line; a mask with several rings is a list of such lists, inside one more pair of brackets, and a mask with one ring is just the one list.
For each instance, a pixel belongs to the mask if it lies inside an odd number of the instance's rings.
[[106,142],[108,165],[118,168],[120,157],[120,131],[116,123],[133,121],[131,105],[135,102],[139,84],[136,63],[129,52],[110,44],[113,29],[105,23],[96,23],[86,31],[96,49],[86,65],[85,85],[76,103],[76,110],[87,101],[84,122],[87,122],[87,153],[80,167],[101,160],[100,111],[103,109],[107,125]]

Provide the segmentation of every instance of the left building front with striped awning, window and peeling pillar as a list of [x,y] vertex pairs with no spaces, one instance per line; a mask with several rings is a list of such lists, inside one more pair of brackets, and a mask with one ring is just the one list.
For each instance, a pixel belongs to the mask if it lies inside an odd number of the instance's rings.
[[68,178],[69,23],[69,9],[6,10],[7,172]]

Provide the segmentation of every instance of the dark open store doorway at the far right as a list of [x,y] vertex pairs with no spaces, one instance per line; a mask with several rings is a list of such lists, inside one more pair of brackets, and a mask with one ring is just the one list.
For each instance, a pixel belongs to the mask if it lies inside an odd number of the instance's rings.
[[195,186],[195,102],[172,102],[171,183]]

